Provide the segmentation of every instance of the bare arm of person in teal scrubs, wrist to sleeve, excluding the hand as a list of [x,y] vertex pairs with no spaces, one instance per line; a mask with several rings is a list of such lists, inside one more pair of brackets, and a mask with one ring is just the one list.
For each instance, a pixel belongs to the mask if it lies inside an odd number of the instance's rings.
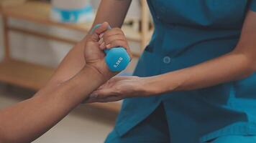
[[183,91],[243,79],[250,76],[255,70],[256,13],[249,11],[239,42],[233,51],[196,66],[152,77],[150,82],[152,84],[162,82],[164,85],[160,88],[162,92]]

